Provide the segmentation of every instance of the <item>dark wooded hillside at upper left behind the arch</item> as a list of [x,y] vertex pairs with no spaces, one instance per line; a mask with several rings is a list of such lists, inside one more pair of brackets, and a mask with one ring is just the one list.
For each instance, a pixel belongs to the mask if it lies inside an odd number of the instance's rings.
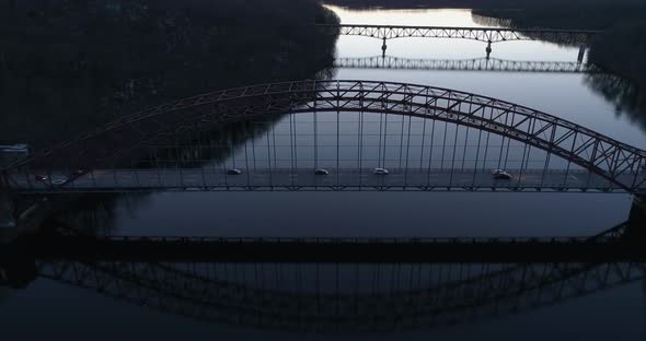
[[314,78],[313,0],[0,0],[0,139],[42,148],[210,90]]

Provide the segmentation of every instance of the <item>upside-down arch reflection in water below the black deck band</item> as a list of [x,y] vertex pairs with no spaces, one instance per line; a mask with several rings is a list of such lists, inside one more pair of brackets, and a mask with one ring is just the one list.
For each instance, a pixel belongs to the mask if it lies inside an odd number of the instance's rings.
[[[337,283],[344,280],[338,264],[332,266],[337,268],[332,274],[299,264],[287,266],[291,270],[278,264],[261,269],[257,264],[231,266],[240,269],[223,268],[222,273],[209,263],[38,262],[44,278],[136,305],[206,321],[295,331],[415,330],[469,322],[638,281],[645,270],[643,263],[443,264],[417,271],[412,267],[406,284],[401,284],[392,279],[408,273],[402,272],[402,264],[376,264],[371,272],[381,272],[382,279],[377,275],[377,281],[385,279],[390,285],[372,283],[380,292],[359,293],[356,280],[349,292],[338,284],[332,292],[319,290],[324,275],[336,275]],[[346,273],[349,279],[368,274],[374,281],[374,273],[356,267],[353,271],[356,273]],[[419,283],[422,273],[415,272],[423,271],[434,277],[439,272],[437,283]],[[235,273],[246,273],[250,280],[240,282]],[[281,290],[280,278],[293,281],[289,286],[296,291]]]

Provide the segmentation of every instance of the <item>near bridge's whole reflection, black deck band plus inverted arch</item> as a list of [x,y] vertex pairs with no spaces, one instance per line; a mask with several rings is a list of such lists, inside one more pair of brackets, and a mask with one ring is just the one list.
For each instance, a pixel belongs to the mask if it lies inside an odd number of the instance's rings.
[[48,279],[245,328],[429,330],[644,281],[643,214],[579,238],[94,237],[74,220],[2,245],[0,285]]

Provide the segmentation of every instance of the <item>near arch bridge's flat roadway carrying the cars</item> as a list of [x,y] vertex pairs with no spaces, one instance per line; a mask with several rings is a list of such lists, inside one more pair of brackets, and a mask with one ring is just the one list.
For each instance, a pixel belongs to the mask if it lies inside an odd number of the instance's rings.
[[[584,170],[508,169],[511,179],[495,179],[489,169],[373,168],[334,169],[316,175],[313,168],[242,169],[229,175],[214,168],[109,169],[67,178],[50,175],[36,181],[30,175],[11,176],[16,192],[114,192],[160,190],[469,190],[469,191],[600,191],[624,192],[616,184]],[[620,175],[630,184],[633,174]],[[67,179],[67,181],[65,181]],[[64,183],[65,181],[65,183]],[[54,184],[51,184],[54,183]]]

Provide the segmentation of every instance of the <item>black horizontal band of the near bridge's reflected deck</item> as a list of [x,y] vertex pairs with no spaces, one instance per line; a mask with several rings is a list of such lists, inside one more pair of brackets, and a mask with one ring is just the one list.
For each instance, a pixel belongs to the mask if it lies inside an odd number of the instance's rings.
[[[48,236],[14,245],[41,259],[234,262],[641,261],[643,240],[588,238],[163,238]],[[9,247],[5,251],[11,252]]]

